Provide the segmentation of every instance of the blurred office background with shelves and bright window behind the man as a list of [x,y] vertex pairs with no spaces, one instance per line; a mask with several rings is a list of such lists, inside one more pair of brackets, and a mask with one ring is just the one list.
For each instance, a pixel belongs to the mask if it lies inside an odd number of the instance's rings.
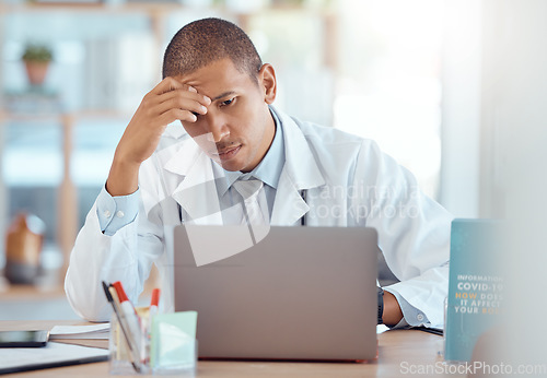
[[[63,271],[124,128],[161,80],[166,44],[205,16],[240,24],[275,66],[276,106],[376,140],[455,216],[503,217],[514,209],[505,147],[519,127],[502,117],[519,114],[504,96],[507,58],[521,52],[505,42],[544,49],[546,23],[527,22],[540,14],[542,0],[3,0],[0,269],[7,229],[26,212],[45,224],[40,274]],[[28,44],[53,52],[42,85],[28,82]],[[68,307],[62,274],[53,276],[35,290],[55,319]],[[0,319],[31,311],[22,292],[0,285]]]

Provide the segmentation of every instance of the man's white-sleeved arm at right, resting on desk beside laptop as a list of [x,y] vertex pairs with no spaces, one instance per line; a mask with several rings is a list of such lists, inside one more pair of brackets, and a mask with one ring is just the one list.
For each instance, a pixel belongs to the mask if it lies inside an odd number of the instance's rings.
[[399,280],[384,287],[384,323],[398,326],[405,316],[409,326],[442,328],[453,216],[372,141],[363,142],[354,185],[366,185],[364,225],[376,228],[379,247]]

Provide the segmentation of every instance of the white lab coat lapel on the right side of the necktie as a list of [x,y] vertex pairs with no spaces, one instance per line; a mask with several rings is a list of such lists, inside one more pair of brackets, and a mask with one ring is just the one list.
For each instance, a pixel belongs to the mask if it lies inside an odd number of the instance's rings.
[[302,198],[302,191],[325,185],[325,179],[295,121],[271,108],[283,127],[286,154],[274,202],[271,225],[287,226],[293,225],[310,211],[309,204]]

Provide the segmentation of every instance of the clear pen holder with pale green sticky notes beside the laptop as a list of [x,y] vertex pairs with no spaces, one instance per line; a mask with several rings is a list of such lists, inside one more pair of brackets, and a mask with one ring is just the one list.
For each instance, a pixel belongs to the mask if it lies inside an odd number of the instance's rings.
[[[110,320],[110,375],[177,375],[194,377],[198,344],[178,327],[177,320],[185,312],[154,317],[152,327],[148,308],[137,308],[141,319],[141,334],[137,338],[124,333],[115,314]],[[175,320],[175,321],[173,321]],[[195,323],[195,320],[194,320]],[[128,345],[128,339],[132,349]]]

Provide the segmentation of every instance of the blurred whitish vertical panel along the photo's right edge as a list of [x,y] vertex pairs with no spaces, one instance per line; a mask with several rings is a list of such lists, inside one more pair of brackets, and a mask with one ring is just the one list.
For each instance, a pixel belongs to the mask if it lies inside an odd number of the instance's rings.
[[512,224],[505,260],[513,340],[499,352],[547,368],[547,1],[485,0],[484,15],[481,111],[492,140],[490,170],[482,172],[491,192],[482,196]]

